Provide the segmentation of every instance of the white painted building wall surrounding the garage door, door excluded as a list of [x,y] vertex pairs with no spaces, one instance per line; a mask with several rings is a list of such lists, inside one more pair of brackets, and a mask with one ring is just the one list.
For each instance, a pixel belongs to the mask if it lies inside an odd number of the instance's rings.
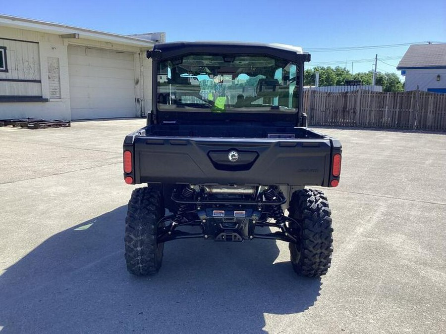
[[[0,95],[42,95],[43,98],[50,99],[49,102],[0,102],[0,119],[26,117],[71,119],[68,45],[133,53],[135,60],[138,60],[135,61],[134,96],[137,98],[135,99],[134,115],[140,116],[141,110],[145,114],[151,110],[152,62],[146,58],[145,49],[82,38],[62,39],[55,34],[5,26],[0,26],[0,38],[3,38],[3,40],[0,39],[0,46],[8,44],[6,46],[8,69],[14,68],[8,73],[0,72],[0,78],[41,80],[41,83],[0,82]],[[4,39],[38,42],[38,44],[6,42],[7,40]],[[27,45],[31,45],[31,47]],[[13,58],[11,58],[12,56]],[[53,80],[48,79],[48,66],[49,63],[53,64],[54,70],[55,58],[58,59],[59,66],[59,77],[56,82],[54,78]],[[57,83],[60,85],[59,92],[57,92]],[[53,98],[54,96],[60,96],[60,98]]]

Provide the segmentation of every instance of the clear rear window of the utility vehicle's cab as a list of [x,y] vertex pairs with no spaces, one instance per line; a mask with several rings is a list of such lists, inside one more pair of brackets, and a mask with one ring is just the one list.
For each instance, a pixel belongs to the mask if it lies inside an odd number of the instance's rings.
[[192,54],[161,61],[158,109],[295,113],[296,71],[292,62],[258,55]]

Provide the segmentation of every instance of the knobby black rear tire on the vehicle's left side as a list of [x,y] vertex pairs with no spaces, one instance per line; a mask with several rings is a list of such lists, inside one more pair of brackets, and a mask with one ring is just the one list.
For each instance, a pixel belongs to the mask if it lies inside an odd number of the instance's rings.
[[138,276],[154,275],[161,267],[164,243],[157,243],[158,221],[165,209],[160,191],[139,188],[132,192],[125,219],[127,270]]

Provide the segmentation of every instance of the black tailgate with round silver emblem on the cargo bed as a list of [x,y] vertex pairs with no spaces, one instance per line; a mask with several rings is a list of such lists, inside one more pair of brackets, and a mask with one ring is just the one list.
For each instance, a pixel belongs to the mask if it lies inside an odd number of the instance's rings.
[[328,186],[331,139],[133,137],[135,183]]

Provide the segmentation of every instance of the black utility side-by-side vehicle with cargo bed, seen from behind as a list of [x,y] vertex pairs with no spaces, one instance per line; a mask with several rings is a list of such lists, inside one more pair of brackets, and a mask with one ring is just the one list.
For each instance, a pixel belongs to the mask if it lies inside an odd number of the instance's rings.
[[125,221],[125,260],[158,272],[175,239],[277,239],[295,272],[327,273],[341,144],[307,128],[304,62],[279,44],[155,45],[147,126],[125,137],[124,180],[135,189]]

